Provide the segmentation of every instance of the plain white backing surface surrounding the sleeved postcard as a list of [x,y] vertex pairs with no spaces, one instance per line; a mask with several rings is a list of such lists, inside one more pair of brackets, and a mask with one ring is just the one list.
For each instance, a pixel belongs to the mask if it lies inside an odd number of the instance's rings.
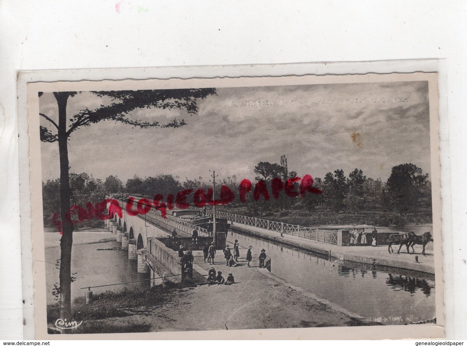
[[[454,244],[446,334],[467,339],[463,1],[0,1],[0,339],[22,338],[16,71],[444,58]],[[454,287],[454,289],[453,289]],[[388,335],[388,337],[391,337]]]

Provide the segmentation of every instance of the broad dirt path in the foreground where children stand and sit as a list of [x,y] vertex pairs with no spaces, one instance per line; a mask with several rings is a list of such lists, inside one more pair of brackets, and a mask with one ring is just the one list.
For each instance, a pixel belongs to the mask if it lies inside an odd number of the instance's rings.
[[[276,278],[267,269],[257,268],[258,249],[253,251],[251,268],[244,258],[237,267],[227,267],[220,250],[214,265],[204,262],[202,251],[193,254],[194,279],[198,285],[174,290],[162,306],[138,315],[111,318],[107,323],[150,325],[151,332],[370,324],[366,318],[320,300]],[[225,279],[232,273],[235,283],[208,286],[205,277],[210,267],[221,271]]]

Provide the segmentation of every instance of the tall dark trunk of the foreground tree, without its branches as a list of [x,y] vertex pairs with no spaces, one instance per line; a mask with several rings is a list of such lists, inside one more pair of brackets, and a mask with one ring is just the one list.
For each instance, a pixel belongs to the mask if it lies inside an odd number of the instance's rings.
[[[58,104],[58,150],[60,154],[60,214],[63,235],[60,240],[60,318],[71,320],[71,246],[73,224],[66,222],[70,210],[70,178],[68,162],[68,135],[66,134],[66,104],[68,92],[54,92]],[[64,331],[67,331],[64,329]]]

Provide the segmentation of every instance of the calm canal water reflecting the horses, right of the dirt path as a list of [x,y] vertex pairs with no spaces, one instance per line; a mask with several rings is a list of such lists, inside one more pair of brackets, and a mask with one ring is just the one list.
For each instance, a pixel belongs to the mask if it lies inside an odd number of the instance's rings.
[[244,247],[241,257],[249,245],[254,258],[264,248],[272,274],[372,321],[400,325],[435,317],[434,275],[354,262],[332,266],[319,254],[229,232],[228,243],[235,239]]

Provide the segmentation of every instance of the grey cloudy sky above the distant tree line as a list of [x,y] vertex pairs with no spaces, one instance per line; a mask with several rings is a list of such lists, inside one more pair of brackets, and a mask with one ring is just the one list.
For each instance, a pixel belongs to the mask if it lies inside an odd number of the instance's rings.
[[[70,98],[68,118],[108,100],[89,92]],[[133,128],[102,121],[71,134],[71,172],[95,178],[173,174],[208,179],[253,178],[260,161],[286,155],[298,176],[324,177],[328,171],[355,168],[386,180],[391,167],[411,162],[430,172],[427,82],[357,83],[218,88],[198,101],[199,112],[145,109],[134,119],[161,122],[183,118],[177,129]],[[51,93],[40,98],[41,113],[57,121]],[[41,125],[49,128],[48,121]],[[58,144],[41,143],[42,180],[59,177]]]

